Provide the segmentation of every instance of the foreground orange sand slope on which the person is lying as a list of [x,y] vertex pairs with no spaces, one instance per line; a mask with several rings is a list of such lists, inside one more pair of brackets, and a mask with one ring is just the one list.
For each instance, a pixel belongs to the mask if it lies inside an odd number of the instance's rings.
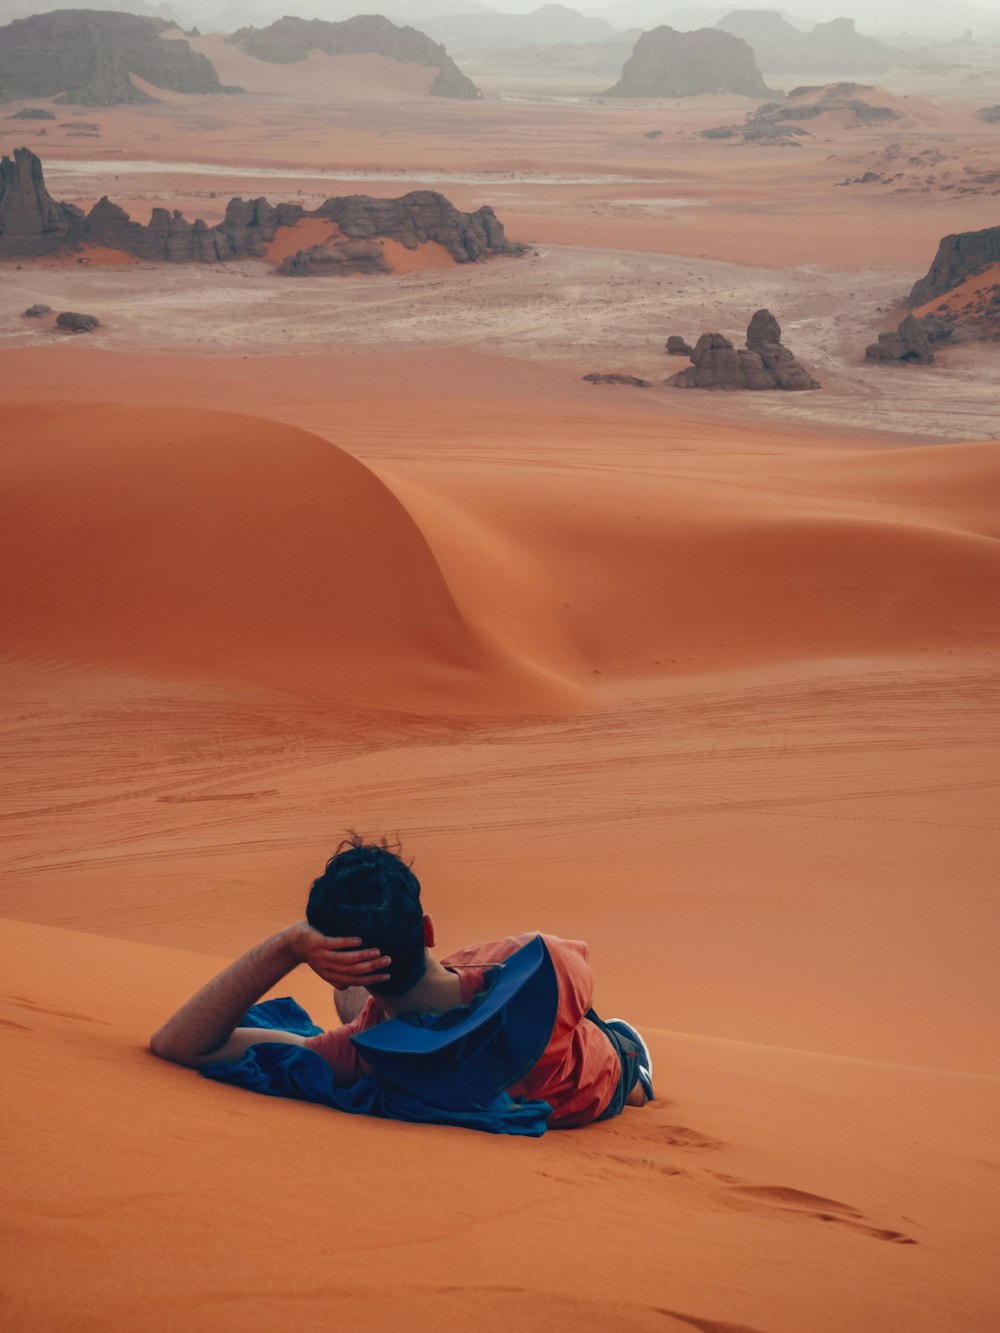
[[[968,1216],[963,1194],[992,1152],[993,1080],[652,1032],[669,1069],[653,1109],[484,1142],[153,1061],[151,1026],[223,960],[9,921],[0,958],[4,1068],[39,1089],[7,1126],[12,1330],[59,1326],[68,1308],[103,1326],[141,1308],[157,1333],[325,1329],[331,1309],[428,1328],[460,1292],[496,1333],[839,1333],[845,1266],[855,1292],[881,1292],[865,1333],[940,1329],[928,1300],[956,1328],[989,1328],[988,1297],[960,1284],[992,1264],[993,1205]],[[761,1268],[795,1278],[760,1282]]]

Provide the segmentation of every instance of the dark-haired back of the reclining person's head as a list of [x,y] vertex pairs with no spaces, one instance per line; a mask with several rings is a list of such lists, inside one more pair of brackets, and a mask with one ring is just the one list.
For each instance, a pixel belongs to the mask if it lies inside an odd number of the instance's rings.
[[420,881],[384,840],[344,838],[313,880],[305,918],[323,934],[357,936],[392,958],[389,980],[369,988],[375,994],[401,996],[427,970]]

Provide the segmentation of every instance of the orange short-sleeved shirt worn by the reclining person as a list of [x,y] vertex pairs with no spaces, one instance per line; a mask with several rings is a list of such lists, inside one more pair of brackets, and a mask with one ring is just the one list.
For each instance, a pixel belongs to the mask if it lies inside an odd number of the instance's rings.
[[[461,978],[461,1002],[468,1004],[483,989],[485,973],[533,940],[535,934],[529,930],[505,940],[471,944],[443,958],[443,966]],[[621,1065],[600,1028],[584,1017],[593,992],[587,945],[580,940],[560,940],[555,934],[543,934],[541,938],[559,981],[556,1021],[537,1062],[508,1092],[512,1097],[547,1101],[552,1106],[549,1125],[572,1129],[600,1116],[617,1086]],[[353,1022],[309,1037],[305,1045],[323,1056],[340,1086],[349,1086],[372,1072],[351,1041],[352,1034],[373,1028],[387,1017],[377,997],[372,996]]]

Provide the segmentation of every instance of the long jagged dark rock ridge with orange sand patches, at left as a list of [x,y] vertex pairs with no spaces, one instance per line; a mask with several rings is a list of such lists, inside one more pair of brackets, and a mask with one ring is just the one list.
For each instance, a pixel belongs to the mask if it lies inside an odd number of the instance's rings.
[[267,256],[281,228],[305,219],[328,224],[320,245],[289,253],[279,267],[287,276],[385,273],[392,269],[384,241],[408,251],[433,243],[456,264],[475,264],[495,255],[519,256],[527,247],[507,240],[503,224],[484,205],[463,213],[443,195],[416,189],[401,199],[349,195],[319,208],[271,204],[267,199],[231,199],[216,227],[201,219],[153,208],[148,224],[133,221],[107,196],[89,213],[59,204],[48,193],[41,163],[28,148],[0,160],[0,257],[21,259],[69,253],[83,244],[123,251],[137,259],[171,264],[216,264]]

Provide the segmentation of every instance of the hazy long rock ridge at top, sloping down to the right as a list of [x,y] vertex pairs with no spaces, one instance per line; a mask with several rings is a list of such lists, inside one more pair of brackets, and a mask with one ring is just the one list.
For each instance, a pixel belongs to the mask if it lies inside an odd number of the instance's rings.
[[240,28],[227,37],[257,60],[296,64],[311,51],[328,56],[377,55],[404,64],[429,65],[437,71],[431,84],[435,97],[481,97],[479,88],[467,79],[440,43],[416,28],[389,23],[381,15],[357,15],[343,23],[324,19],[279,19],[267,28]]

